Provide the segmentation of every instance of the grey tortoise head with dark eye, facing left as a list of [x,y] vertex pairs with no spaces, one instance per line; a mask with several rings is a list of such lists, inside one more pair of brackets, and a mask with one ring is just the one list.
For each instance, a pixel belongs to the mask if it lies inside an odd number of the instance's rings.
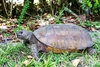
[[16,32],[16,35],[19,39],[30,40],[32,32],[29,32],[27,30],[19,30]]

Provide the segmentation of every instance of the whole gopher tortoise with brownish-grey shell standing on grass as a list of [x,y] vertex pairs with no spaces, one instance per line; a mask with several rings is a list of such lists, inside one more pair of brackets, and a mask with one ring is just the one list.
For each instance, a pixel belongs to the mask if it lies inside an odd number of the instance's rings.
[[30,44],[32,56],[38,60],[39,51],[62,53],[86,49],[90,54],[96,53],[87,30],[75,24],[51,24],[40,27],[34,32],[19,30],[17,37]]

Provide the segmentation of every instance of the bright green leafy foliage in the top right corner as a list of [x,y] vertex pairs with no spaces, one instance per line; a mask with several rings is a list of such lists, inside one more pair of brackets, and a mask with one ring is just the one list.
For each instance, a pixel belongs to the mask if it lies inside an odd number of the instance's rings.
[[100,1],[99,0],[82,0],[81,5],[83,11],[91,11],[94,14],[97,14],[100,12]]

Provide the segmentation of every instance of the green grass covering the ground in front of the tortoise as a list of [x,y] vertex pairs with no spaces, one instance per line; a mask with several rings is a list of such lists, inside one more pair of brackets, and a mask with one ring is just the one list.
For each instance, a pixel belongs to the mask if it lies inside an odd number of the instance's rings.
[[[97,33],[95,33],[98,37]],[[92,34],[92,37],[95,36]],[[94,48],[100,51],[100,39],[94,41]],[[79,65],[81,67],[100,67],[100,56],[98,54],[89,55],[88,53],[63,53],[53,54],[39,53],[39,61],[28,59],[27,56],[31,55],[30,50],[18,43],[16,46],[7,44],[6,46],[0,45],[0,67],[73,67],[72,60],[80,58]],[[28,60],[28,65],[25,66],[23,62]],[[79,66],[78,66],[79,67]]]

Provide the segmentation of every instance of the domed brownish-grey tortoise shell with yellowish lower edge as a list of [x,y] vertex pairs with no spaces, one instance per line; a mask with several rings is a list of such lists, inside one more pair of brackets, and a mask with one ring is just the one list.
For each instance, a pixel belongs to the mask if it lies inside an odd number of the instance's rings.
[[[93,46],[87,30],[75,24],[51,24],[33,32],[48,50],[82,50]],[[58,52],[59,53],[59,52]]]

